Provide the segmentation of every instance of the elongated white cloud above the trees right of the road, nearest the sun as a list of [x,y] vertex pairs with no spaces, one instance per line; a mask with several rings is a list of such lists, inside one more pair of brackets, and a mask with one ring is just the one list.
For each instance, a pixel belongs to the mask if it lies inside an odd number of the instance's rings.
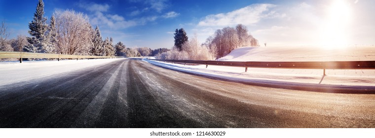
[[269,11],[270,8],[275,6],[273,4],[252,4],[228,13],[208,15],[198,23],[198,26],[253,25],[262,18],[276,17],[277,14],[274,11]]

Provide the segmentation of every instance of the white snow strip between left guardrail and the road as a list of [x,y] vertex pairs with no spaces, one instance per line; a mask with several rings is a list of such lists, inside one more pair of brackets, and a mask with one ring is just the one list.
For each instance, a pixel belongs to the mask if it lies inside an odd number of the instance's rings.
[[118,59],[0,62],[0,86],[105,65]]

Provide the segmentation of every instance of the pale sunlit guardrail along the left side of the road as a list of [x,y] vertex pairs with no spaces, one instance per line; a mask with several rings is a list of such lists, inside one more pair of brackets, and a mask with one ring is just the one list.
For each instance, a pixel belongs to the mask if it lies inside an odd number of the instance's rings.
[[66,54],[47,54],[47,53],[32,53],[32,52],[8,52],[0,51],[0,59],[17,58],[22,63],[23,58],[35,59],[103,59],[103,58],[123,58],[115,56],[85,56],[85,55],[66,55]]

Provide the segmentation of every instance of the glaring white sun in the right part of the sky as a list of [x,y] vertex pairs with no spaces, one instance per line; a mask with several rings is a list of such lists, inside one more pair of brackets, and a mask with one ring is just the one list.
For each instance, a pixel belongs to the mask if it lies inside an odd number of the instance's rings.
[[345,0],[334,0],[327,8],[326,19],[322,23],[321,45],[325,48],[337,48],[348,43],[352,9]]

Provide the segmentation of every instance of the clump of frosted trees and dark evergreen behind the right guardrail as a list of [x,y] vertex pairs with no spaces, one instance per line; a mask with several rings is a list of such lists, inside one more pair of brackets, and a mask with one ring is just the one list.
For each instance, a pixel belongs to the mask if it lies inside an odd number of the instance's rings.
[[216,60],[241,46],[260,46],[258,40],[248,34],[247,27],[242,24],[235,28],[218,29],[202,44],[196,34],[189,39],[183,28],[176,29],[174,35],[174,47],[171,51],[156,55],[157,59]]

